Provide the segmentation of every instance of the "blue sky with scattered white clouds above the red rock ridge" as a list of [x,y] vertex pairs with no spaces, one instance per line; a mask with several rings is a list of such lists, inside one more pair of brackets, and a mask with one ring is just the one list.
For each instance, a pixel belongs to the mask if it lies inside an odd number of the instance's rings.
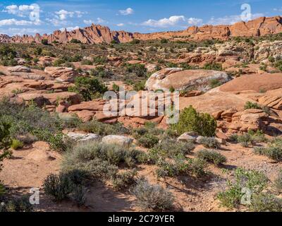
[[91,23],[130,32],[183,30],[191,25],[242,20],[242,4],[250,5],[251,18],[282,15],[281,0],[1,1],[0,33],[43,34],[84,28]]

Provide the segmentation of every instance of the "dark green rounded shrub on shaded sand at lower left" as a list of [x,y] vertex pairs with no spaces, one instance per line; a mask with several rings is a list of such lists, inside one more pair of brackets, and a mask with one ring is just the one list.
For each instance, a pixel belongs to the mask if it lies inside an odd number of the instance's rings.
[[43,189],[45,194],[54,198],[54,201],[63,201],[73,191],[73,184],[64,174],[50,174],[44,180]]

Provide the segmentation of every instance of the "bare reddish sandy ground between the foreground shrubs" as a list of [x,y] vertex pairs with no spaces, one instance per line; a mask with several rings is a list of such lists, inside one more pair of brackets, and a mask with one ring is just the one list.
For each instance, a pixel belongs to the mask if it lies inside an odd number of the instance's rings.
[[[193,151],[193,157],[201,145]],[[216,194],[224,188],[226,170],[236,167],[263,171],[269,179],[275,179],[280,162],[269,160],[268,157],[255,155],[252,148],[243,148],[239,144],[224,145],[220,150],[228,159],[222,168],[209,166],[212,175],[209,178],[195,180],[190,177],[166,178],[157,180],[154,174],[156,166],[140,165],[138,173],[147,177],[152,184],[161,184],[175,196],[176,211],[226,211],[221,208]],[[87,191],[85,208],[74,206],[71,201],[54,203],[42,191],[42,182],[50,173],[58,173],[61,155],[50,152],[44,143],[13,152],[11,159],[4,160],[4,168],[0,172],[0,180],[4,182],[11,194],[27,194],[32,187],[40,188],[40,204],[35,206],[38,211],[138,211],[134,205],[135,198],[128,193],[116,192],[111,186],[102,182],[94,182]]]

